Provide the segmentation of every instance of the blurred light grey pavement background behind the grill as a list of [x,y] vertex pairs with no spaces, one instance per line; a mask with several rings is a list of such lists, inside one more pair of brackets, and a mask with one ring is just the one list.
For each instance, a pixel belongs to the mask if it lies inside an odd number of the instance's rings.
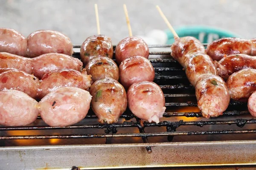
[[61,31],[81,44],[96,34],[94,3],[98,4],[101,33],[113,44],[128,37],[122,4],[126,3],[134,35],[167,26],[159,5],[174,27],[213,26],[244,38],[256,37],[256,0],[0,0],[0,27],[24,34],[39,29]]

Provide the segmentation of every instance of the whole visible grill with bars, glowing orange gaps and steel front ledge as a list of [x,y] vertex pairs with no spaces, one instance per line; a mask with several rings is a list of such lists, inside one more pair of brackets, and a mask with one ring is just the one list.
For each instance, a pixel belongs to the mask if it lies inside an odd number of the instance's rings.
[[[180,64],[170,56],[169,47],[150,46],[149,58],[156,73],[154,82],[160,85],[166,98],[167,109],[160,123],[143,122],[127,110],[117,123],[99,124],[90,110],[79,124],[67,127],[49,127],[40,116],[33,125],[0,126],[1,167],[100,169],[254,165],[256,120],[248,113],[247,105],[230,102],[223,116],[202,118],[196,107],[194,88]],[[79,58],[79,52],[75,52],[74,57]],[[246,135],[248,133],[253,134]],[[51,139],[53,141],[49,142]]]

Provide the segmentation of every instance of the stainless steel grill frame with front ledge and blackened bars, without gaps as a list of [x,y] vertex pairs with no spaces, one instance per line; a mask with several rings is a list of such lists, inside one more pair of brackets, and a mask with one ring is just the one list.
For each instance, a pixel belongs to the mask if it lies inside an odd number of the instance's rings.
[[[206,44],[204,44],[206,45]],[[186,97],[195,98],[194,88],[189,85],[186,75],[181,66],[170,57],[170,45],[150,45],[150,61],[156,72],[155,82],[160,84],[162,90],[182,90],[186,93],[166,93],[166,99],[185,98],[185,102],[166,102],[166,108],[179,108],[181,106],[197,106],[195,101],[186,100]],[[74,45],[74,48],[80,48]],[[115,46],[114,46],[115,48]],[[161,48],[163,51],[159,51]],[[79,52],[74,57],[79,58]],[[179,74],[176,74],[179,72]],[[163,74],[163,73],[170,73]],[[174,74],[172,74],[174,73]],[[172,81],[172,84],[169,82]],[[246,104],[241,102],[230,102],[230,106],[222,116],[244,116],[249,115]],[[166,112],[166,118],[175,116],[201,117],[200,112]],[[85,119],[96,118],[90,111]],[[189,135],[214,135],[214,134],[245,134],[256,133],[256,129],[233,129],[233,130],[202,130],[202,131],[176,131],[180,126],[194,125],[237,125],[243,127],[246,124],[255,124],[255,119],[228,119],[206,121],[163,121],[158,124],[143,122],[131,111],[126,111],[120,118],[136,122],[123,122],[111,125],[86,124],[71,125],[67,127],[49,126],[25,126],[25,127],[3,127],[1,131],[8,130],[63,130],[63,129],[105,129],[105,134],[68,134],[68,135],[25,135],[25,136],[0,136],[0,140],[10,139],[84,139],[84,138],[118,138],[118,137],[140,137],[144,144],[101,144],[101,145],[59,145],[59,146],[31,146],[31,147],[0,147],[0,165],[3,169],[40,169],[40,168],[62,168],[71,169],[72,166],[81,169],[103,169],[103,168],[130,168],[130,167],[195,167],[195,166],[227,166],[227,165],[254,165],[256,164],[256,141],[226,141],[226,142],[171,142],[173,136]],[[38,119],[41,119],[38,116]],[[148,133],[145,127],[166,127],[166,132]],[[137,127],[140,133],[117,133],[117,128]],[[168,136],[167,143],[148,143],[148,137]],[[243,148],[243,150],[241,150]],[[195,154],[194,153],[201,153]],[[118,154],[117,154],[118,153]],[[149,154],[150,153],[150,154]],[[203,155],[207,153],[207,156]],[[239,153],[239,155],[237,154]],[[65,155],[66,154],[66,155]],[[93,155],[92,155],[93,154]],[[36,156],[37,155],[37,156]],[[42,155],[43,157],[41,157]],[[95,155],[95,157],[94,157]],[[102,155],[111,157],[111,161]],[[227,158],[225,159],[225,156]],[[37,157],[40,157],[37,158]],[[54,161],[53,157],[55,160]],[[137,158],[138,157],[138,158]],[[122,159],[125,158],[125,161]],[[192,159],[193,158],[193,159]],[[199,159],[201,158],[201,159]],[[212,159],[214,158],[214,159]],[[33,160],[33,161],[31,161]],[[98,163],[97,161],[104,162]]]

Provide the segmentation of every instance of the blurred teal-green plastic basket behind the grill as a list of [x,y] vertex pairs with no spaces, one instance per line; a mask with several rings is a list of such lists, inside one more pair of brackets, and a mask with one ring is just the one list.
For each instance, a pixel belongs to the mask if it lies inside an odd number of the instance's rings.
[[[207,26],[183,26],[175,28],[179,37],[191,36],[200,40],[202,43],[210,43],[213,40],[217,40],[224,37],[241,37],[230,31],[226,31],[219,28],[212,28]],[[168,37],[166,44],[172,44],[174,42],[173,34],[170,30],[166,30]]]

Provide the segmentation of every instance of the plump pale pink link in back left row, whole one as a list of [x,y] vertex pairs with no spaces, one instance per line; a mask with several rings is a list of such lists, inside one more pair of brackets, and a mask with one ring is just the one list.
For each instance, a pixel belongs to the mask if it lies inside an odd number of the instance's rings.
[[39,30],[27,37],[28,57],[37,57],[47,53],[61,53],[72,56],[71,40],[58,31]]

